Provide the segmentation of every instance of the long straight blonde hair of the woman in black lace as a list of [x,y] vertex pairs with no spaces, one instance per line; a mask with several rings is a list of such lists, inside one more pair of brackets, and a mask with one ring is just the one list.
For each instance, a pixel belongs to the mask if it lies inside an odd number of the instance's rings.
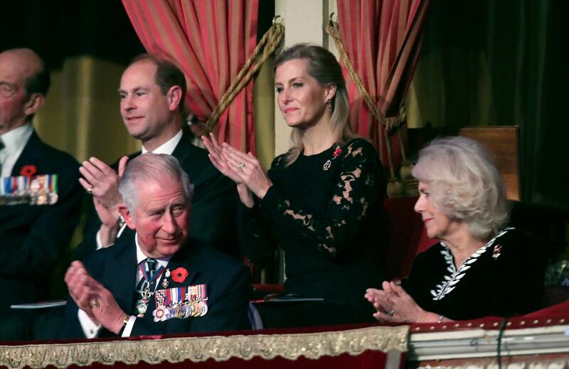
[[[333,111],[330,125],[336,136],[336,143],[342,144],[349,141],[350,138],[356,137],[349,121],[350,104],[348,91],[346,90],[346,81],[344,80],[344,75],[342,75],[340,63],[336,60],[334,54],[321,46],[297,43],[283,50],[277,56],[272,69],[273,73],[277,71],[277,67],[294,59],[307,62],[307,73],[310,77],[316,79],[320,86],[336,86],[336,94],[330,101]],[[287,155],[287,165],[297,160],[298,155],[304,148],[304,144],[302,143],[302,131],[299,128],[292,128],[290,141],[292,145]]]

